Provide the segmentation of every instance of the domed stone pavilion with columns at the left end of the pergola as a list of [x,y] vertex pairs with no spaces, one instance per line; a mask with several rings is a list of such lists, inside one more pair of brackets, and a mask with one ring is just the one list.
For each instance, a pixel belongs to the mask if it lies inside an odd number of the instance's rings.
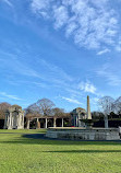
[[12,105],[5,113],[5,129],[24,129],[24,111],[19,105]]

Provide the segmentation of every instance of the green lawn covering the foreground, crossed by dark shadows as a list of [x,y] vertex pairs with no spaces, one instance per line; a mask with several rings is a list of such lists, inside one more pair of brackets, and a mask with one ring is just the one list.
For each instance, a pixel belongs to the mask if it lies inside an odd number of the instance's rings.
[[121,143],[27,138],[0,130],[0,173],[121,173]]

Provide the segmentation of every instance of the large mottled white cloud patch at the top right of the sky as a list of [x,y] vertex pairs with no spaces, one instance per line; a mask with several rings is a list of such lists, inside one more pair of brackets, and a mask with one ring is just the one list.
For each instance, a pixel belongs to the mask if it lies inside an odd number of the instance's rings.
[[64,28],[65,36],[81,47],[114,47],[118,19],[109,0],[32,0],[31,7],[36,14],[48,15],[55,28]]

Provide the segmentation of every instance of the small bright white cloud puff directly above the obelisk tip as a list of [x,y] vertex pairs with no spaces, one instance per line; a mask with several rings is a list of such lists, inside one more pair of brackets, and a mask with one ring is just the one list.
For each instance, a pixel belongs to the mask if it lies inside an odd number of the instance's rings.
[[90,82],[81,82],[78,84],[78,88],[81,90],[83,90],[84,92],[89,92],[89,93],[93,93],[95,94],[96,93],[96,86],[94,84],[92,84]]

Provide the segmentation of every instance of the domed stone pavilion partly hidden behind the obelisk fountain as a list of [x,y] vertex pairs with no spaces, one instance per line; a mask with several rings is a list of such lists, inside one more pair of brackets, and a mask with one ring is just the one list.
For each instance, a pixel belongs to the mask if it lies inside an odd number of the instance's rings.
[[86,118],[86,109],[82,107],[77,107],[71,112],[71,124],[74,127],[84,127],[85,123],[81,122],[81,119]]

